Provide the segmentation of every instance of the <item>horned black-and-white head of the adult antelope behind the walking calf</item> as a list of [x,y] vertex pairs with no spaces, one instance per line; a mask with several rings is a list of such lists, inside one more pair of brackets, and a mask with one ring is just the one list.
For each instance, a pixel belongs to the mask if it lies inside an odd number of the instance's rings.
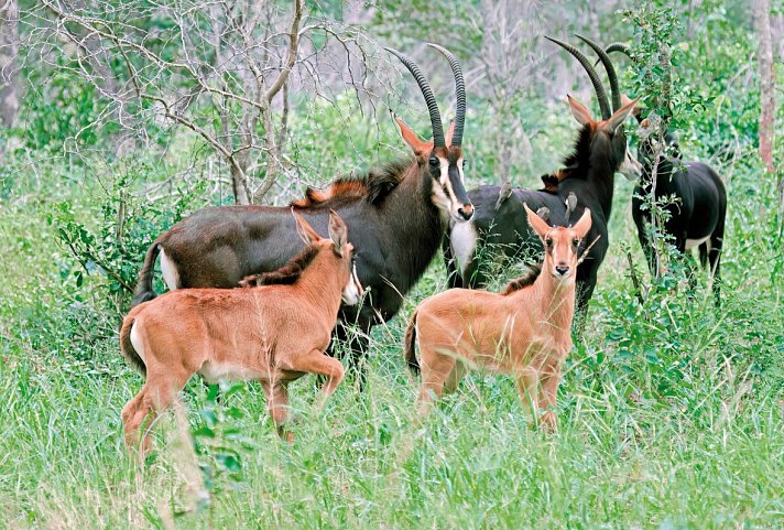
[[449,127],[445,137],[438,104],[436,104],[433,90],[422,74],[422,71],[411,58],[396,50],[388,47],[386,50],[409,68],[409,72],[414,76],[414,79],[416,79],[422,90],[431,116],[433,140],[421,140],[403,120],[398,117],[395,117],[394,120],[403,141],[407,143],[414,152],[417,164],[423,170],[426,169],[425,171],[427,171],[431,176],[433,203],[451,219],[461,223],[469,220],[473,216],[473,205],[471,204],[471,199],[468,198],[465,186],[462,156],[462,129],[466,120],[466,84],[462,79],[462,69],[455,55],[437,44],[428,43],[428,45],[440,52],[449,61],[449,65],[451,66],[451,72],[455,76],[455,95],[457,97],[455,121]]

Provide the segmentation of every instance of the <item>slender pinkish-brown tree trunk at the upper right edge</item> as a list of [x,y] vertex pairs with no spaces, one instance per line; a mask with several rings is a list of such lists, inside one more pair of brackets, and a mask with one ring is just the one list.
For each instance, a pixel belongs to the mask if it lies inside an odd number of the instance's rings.
[[762,158],[767,172],[773,173],[775,77],[773,73],[770,13],[770,0],[754,1],[754,25],[758,39],[756,57],[760,65],[760,158]]

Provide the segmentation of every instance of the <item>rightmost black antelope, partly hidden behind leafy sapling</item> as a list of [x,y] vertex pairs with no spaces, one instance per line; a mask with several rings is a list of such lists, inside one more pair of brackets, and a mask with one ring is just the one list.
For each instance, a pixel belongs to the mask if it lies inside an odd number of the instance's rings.
[[[620,43],[613,43],[608,53],[622,52],[630,55],[629,48]],[[647,128],[646,119],[641,109],[635,107],[634,117],[642,128]],[[645,253],[649,269],[656,274],[653,245],[651,241],[651,208],[649,199],[653,191],[654,201],[666,197],[674,202],[663,209],[667,214],[664,221],[664,232],[673,237],[678,252],[686,253],[695,247],[699,248],[703,267],[708,266],[714,274],[714,295],[716,304],[720,302],[719,263],[721,246],[725,237],[725,216],[727,214],[727,191],[716,171],[701,162],[684,162],[674,136],[669,131],[664,134],[664,148],[656,148],[655,134],[643,138],[638,147],[638,156],[642,162],[642,180],[632,195],[632,217],[638,228],[638,238]],[[664,153],[656,164],[656,152]],[[656,175],[653,179],[653,167]]]

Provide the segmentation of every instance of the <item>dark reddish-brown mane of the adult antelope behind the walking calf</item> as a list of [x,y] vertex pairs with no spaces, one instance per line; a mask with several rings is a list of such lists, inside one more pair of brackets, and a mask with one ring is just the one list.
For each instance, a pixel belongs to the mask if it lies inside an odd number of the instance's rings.
[[364,198],[370,204],[381,204],[403,180],[403,174],[411,163],[411,159],[403,159],[370,170],[362,176],[341,176],[324,191],[308,187],[305,190],[305,197],[292,202],[291,206],[298,209],[327,208],[347,198]]

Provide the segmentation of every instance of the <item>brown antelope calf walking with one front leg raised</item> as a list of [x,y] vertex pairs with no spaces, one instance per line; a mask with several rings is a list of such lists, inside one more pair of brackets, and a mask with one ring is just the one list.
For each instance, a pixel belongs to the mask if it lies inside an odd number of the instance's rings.
[[[138,443],[144,420],[172,404],[194,374],[210,382],[258,379],[280,434],[288,415],[290,381],[323,375],[319,404],[340,383],[340,361],[324,351],[341,299],[351,305],[362,294],[353,246],[335,212],[329,215],[330,239],[293,214],[307,246],[283,268],[246,278],[248,289],[171,291],[126,316],[120,349],[146,378],[122,409],[129,448]],[[148,443],[145,434],[142,453]]]

